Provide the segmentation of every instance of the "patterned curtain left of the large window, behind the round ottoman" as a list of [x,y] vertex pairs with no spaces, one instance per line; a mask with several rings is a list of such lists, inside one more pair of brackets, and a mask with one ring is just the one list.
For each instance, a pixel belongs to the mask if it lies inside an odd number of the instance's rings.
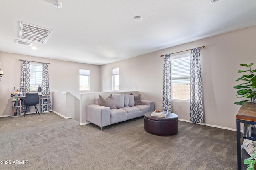
[[172,112],[172,84],[171,84],[171,55],[164,55],[164,86],[163,86],[163,109],[168,106],[169,111]]

